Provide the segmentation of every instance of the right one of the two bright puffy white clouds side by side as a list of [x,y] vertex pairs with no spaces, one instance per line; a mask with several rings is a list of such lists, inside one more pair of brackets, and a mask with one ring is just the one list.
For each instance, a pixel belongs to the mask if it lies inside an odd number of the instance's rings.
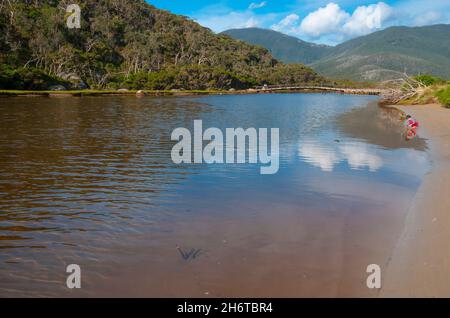
[[393,9],[384,2],[356,8],[352,16],[342,26],[344,33],[355,36],[381,29],[393,13]]

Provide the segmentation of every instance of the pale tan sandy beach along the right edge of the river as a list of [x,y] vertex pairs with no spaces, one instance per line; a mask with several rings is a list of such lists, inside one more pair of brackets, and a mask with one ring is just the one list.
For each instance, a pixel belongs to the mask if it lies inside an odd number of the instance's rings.
[[450,297],[450,109],[395,106],[421,124],[430,141],[425,176],[382,277],[381,297]]

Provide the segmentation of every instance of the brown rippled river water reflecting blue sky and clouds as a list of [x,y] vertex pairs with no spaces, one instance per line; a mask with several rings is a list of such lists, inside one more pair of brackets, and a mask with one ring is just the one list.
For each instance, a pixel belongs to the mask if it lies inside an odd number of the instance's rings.
[[[174,164],[195,119],[278,127],[278,173]],[[402,133],[373,96],[0,98],[0,296],[374,296],[430,167]]]

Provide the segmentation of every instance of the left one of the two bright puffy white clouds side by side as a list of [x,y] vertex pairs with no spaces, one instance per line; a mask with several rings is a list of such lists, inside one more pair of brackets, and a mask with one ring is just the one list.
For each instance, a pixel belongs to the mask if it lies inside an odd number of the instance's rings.
[[300,33],[312,37],[334,33],[350,18],[336,3],[329,3],[326,7],[308,14],[300,24]]

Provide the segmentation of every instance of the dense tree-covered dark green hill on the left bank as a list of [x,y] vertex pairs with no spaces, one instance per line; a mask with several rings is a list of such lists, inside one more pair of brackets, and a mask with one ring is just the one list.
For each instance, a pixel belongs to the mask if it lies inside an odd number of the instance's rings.
[[66,26],[72,1],[0,2],[0,88],[210,89],[320,83],[303,65],[142,0],[80,0],[81,28]]

